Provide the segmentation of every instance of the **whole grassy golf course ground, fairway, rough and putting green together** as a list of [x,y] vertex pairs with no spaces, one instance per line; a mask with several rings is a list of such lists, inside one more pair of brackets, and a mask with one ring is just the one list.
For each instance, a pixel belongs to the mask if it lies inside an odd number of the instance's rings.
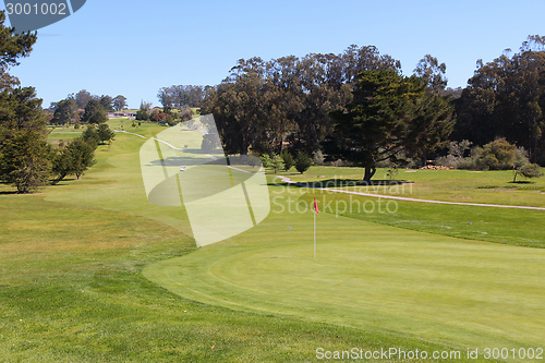
[[143,185],[140,149],[166,128],[108,123],[143,137],[117,133],[82,180],[0,184],[2,361],[314,362],[319,348],[545,359],[544,178],[400,169],[398,184],[362,186],[359,168],[267,169],[269,215],[197,247],[183,205],[154,205]]

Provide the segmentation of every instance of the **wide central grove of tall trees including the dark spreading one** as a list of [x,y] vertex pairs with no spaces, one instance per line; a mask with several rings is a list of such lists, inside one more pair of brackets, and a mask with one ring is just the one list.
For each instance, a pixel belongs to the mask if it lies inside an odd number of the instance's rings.
[[[420,75],[403,76],[400,62],[373,46],[350,46],[340,55],[241,59],[223,82],[208,89],[201,113],[215,116],[227,153],[323,152],[365,166],[368,179],[382,158],[434,150],[452,129],[451,107],[440,96],[445,65],[426,56],[415,72]],[[375,90],[384,90],[380,102],[390,107],[389,121],[378,104],[368,105],[375,116],[354,113]],[[361,118],[366,122],[356,125]],[[384,122],[374,135],[372,119]],[[417,125],[409,131],[413,123]],[[362,137],[371,144],[361,143]],[[403,137],[412,137],[412,144],[401,143]]]

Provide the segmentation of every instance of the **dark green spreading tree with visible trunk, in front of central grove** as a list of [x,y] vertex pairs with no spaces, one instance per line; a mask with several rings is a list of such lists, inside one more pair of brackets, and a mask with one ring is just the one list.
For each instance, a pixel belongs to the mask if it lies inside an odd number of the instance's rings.
[[452,130],[452,109],[438,96],[426,94],[420,77],[364,71],[355,87],[346,110],[331,113],[336,124],[325,145],[330,156],[364,167],[364,182],[371,181],[377,162],[397,162],[401,153],[434,149]]

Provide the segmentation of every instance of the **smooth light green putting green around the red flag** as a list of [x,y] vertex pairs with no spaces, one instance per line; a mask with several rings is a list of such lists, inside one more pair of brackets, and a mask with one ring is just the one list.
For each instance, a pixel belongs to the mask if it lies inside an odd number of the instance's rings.
[[261,225],[150,265],[145,276],[186,299],[234,310],[385,330],[459,349],[542,347],[545,250],[323,213],[314,259],[312,213],[280,213],[290,190],[275,187],[277,199]]

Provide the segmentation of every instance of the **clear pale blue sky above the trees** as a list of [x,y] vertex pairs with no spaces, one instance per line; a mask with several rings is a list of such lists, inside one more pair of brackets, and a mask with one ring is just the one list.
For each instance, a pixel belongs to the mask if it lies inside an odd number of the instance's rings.
[[355,44],[400,60],[407,75],[429,53],[447,64],[449,86],[464,87],[477,59],[544,36],[543,14],[543,0],[87,0],[39,29],[31,57],[10,72],[44,106],[85,88],[137,108],[158,105],[164,86],[218,84],[240,58],[339,53]]

